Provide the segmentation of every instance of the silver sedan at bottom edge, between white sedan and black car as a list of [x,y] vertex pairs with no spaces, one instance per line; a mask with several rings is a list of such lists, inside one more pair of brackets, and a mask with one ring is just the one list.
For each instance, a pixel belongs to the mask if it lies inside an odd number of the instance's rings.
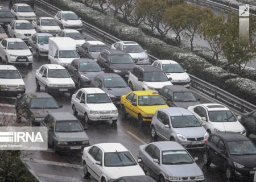
[[139,163],[159,182],[165,181],[204,181],[204,174],[195,160],[177,142],[152,142],[139,146]]

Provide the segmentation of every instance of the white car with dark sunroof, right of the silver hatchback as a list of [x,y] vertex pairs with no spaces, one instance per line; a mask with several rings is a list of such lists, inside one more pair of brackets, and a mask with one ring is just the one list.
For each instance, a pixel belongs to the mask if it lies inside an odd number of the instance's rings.
[[189,106],[191,111],[200,123],[204,123],[208,133],[217,131],[233,131],[246,136],[245,127],[238,121],[241,117],[236,117],[232,111],[221,104],[199,104]]

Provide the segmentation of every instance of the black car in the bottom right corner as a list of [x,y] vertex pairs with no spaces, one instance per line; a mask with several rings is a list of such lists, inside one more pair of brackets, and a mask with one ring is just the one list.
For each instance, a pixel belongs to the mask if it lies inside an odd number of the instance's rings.
[[231,131],[210,134],[205,143],[204,164],[224,169],[227,179],[253,178],[256,172],[256,146],[240,133]]

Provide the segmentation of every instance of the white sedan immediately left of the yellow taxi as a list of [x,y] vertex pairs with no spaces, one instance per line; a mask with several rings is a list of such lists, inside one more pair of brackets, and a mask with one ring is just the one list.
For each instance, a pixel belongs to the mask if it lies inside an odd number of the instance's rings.
[[107,121],[117,122],[118,110],[108,94],[99,88],[81,88],[72,95],[73,114],[84,115],[85,122]]

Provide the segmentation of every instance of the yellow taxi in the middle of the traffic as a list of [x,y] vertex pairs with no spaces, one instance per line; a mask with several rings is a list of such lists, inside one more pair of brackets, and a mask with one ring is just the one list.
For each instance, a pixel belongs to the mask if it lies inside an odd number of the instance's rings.
[[155,111],[162,107],[168,107],[158,93],[151,90],[139,90],[121,96],[121,114],[127,114],[137,118],[139,125],[143,121],[151,121]]

